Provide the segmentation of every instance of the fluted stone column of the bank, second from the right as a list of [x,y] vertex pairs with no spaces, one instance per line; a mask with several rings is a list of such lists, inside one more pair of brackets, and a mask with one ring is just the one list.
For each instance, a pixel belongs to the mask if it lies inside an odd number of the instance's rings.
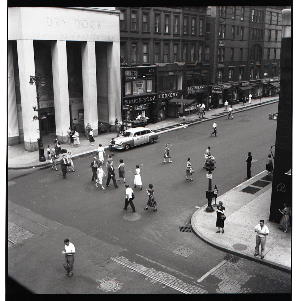
[[84,125],[89,123],[98,136],[95,42],[82,42],[82,92]]

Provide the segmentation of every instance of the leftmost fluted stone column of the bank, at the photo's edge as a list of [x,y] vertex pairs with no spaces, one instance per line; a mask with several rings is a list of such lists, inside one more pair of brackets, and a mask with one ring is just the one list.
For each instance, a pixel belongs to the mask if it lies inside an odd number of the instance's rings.
[[19,126],[17,117],[17,103],[16,103],[16,90],[15,90],[15,76],[13,64],[13,51],[11,42],[7,44],[7,107],[8,107],[8,145],[12,146],[19,144]]

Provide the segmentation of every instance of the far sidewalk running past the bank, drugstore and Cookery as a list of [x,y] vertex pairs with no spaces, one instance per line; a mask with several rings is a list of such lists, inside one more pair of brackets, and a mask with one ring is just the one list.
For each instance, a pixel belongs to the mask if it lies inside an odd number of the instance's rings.
[[[252,100],[252,104],[239,103],[233,105],[233,115],[235,118],[235,113],[244,110],[250,110],[254,107],[258,107],[260,105],[267,105],[273,102],[277,102],[279,97],[264,97],[260,99]],[[260,103],[260,105],[259,105]],[[274,112],[271,112],[274,113]],[[182,117],[166,117],[165,120],[149,124],[147,128],[151,129],[154,132],[157,132],[159,135],[165,132],[170,132],[176,129],[180,129],[186,126],[190,126],[200,122],[206,122],[211,119],[217,119],[219,117],[225,116],[227,113],[224,111],[224,107],[218,109],[211,109],[205,112],[203,118],[197,118],[197,114],[191,114],[190,116],[185,116],[185,123],[183,123]],[[47,159],[47,146],[49,145],[50,149],[53,148],[53,140],[55,134],[50,134],[43,137],[43,146],[44,146],[44,154]],[[102,144],[105,147],[105,150],[108,149],[108,145],[112,139],[112,137],[116,137],[115,132],[109,132],[99,135],[95,137],[95,146],[90,146],[90,142],[87,140],[87,137],[84,133],[79,133],[80,144],[79,147],[72,147],[71,144],[62,144],[61,148],[65,148],[68,151],[71,151],[73,157],[77,156],[85,156],[87,154],[95,153],[98,148],[98,144]],[[46,162],[39,162],[39,151],[29,152],[24,150],[24,142],[14,145],[8,146],[8,169],[24,169],[24,168],[33,168],[33,167],[42,167],[51,165],[50,160],[46,160]],[[61,156],[60,156],[61,159]],[[59,160],[57,162],[59,162]]]

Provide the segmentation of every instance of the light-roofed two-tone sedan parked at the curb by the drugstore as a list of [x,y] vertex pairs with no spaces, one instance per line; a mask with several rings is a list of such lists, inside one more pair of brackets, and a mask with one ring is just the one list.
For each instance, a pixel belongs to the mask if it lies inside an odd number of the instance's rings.
[[117,149],[125,149],[126,151],[132,146],[136,146],[144,143],[154,143],[159,139],[159,136],[150,129],[147,128],[133,128],[124,131],[122,136],[114,139]]

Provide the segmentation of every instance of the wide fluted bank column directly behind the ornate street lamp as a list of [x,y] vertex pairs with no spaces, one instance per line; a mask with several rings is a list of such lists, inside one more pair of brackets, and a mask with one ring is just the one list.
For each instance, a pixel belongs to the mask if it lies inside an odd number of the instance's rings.
[[33,106],[38,107],[36,85],[30,85],[30,76],[35,76],[35,58],[33,51],[33,40],[17,40],[18,66],[20,79],[20,94],[22,106],[22,121],[24,131],[24,147],[26,151],[37,151],[39,149],[37,139],[39,121],[33,121],[33,116],[38,116],[38,112],[33,110]]

